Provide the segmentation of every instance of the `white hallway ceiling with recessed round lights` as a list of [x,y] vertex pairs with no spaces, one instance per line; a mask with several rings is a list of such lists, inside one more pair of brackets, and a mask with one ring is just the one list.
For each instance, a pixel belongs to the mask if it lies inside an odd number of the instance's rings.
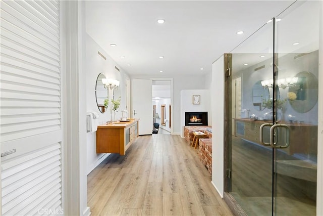
[[86,31],[131,76],[204,74],[292,2],[86,1]]

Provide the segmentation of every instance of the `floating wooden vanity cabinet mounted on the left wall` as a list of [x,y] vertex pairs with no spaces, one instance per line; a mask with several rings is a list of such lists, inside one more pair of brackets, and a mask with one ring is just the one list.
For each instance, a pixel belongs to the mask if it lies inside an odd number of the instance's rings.
[[129,122],[115,122],[97,126],[96,153],[119,153],[125,155],[126,150],[138,137],[139,119]]

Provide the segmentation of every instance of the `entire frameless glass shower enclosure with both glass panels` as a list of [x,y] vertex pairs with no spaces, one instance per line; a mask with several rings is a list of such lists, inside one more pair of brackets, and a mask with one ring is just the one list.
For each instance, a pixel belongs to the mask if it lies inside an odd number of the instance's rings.
[[[299,14],[318,7],[294,3],[226,55],[225,199],[237,214],[316,214],[319,18]],[[292,38],[310,43],[295,47]]]

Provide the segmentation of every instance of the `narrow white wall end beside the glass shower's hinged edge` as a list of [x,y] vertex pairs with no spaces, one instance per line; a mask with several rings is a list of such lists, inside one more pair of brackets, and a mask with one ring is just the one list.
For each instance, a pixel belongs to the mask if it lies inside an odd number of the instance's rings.
[[[212,64],[212,184],[224,193],[224,56]],[[215,94],[216,93],[216,94]],[[216,95],[216,98],[214,96]]]

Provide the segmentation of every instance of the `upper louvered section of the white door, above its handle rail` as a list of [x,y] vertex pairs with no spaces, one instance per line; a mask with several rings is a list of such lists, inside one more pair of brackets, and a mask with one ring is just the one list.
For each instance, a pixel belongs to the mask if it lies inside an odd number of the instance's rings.
[[[48,4],[2,2],[2,142],[60,129],[61,119],[55,115],[61,106],[59,11]],[[22,39],[26,34],[28,39]],[[47,46],[39,47],[39,42]]]

